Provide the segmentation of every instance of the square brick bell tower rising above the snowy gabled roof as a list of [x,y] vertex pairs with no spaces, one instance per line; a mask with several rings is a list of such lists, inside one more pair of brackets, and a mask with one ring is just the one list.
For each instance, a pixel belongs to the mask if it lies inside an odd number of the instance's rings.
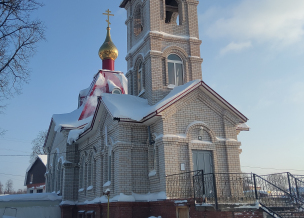
[[129,94],[150,105],[202,79],[197,0],[123,0],[127,10]]

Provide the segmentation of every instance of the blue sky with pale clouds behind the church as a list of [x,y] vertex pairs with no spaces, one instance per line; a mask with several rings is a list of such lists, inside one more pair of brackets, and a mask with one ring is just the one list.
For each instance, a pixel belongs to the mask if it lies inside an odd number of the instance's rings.
[[[126,72],[126,12],[120,0],[53,0],[33,17],[47,27],[31,59],[29,84],[7,101],[0,127],[1,154],[28,154],[31,141],[48,128],[52,114],[77,107],[77,96],[101,68],[98,49],[106,34],[119,49],[116,70]],[[202,0],[199,31],[203,80],[248,118],[241,132],[244,172],[304,174],[304,1]],[[23,188],[29,157],[1,157],[0,181]],[[17,176],[5,175],[13,174]]]

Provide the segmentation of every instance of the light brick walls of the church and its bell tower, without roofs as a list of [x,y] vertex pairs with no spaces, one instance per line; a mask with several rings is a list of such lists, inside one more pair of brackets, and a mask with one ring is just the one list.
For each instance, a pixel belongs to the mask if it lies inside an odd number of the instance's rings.
[[[165,23],[165,0],[124,2],[129,94],[139,94],[136,69],[142,62],[145,91],[140,97],[150,105],[163,99],[172,90],[168,87],[169,54],[182,59],[183,83],[201,80],[198,1],[177,0],[180,25]],[[142,11],[138,35],[133,31],[136,7]],[[60,191],[64,200],[84,202],[100,197],[106,188],[111,196],[166,191],[166,175],[193,170],[194,150],[212,152],[214,172],[240,172],[236,127],[246,120],[203,86],[143,122],[115,120],[102,104],[98,110],[97,128],[72,145],[67,144],[67,130],[49,134],[47,192]],[[154,144],[149,143],[148,127]],[[108,181],[111,184],[104,186]]]

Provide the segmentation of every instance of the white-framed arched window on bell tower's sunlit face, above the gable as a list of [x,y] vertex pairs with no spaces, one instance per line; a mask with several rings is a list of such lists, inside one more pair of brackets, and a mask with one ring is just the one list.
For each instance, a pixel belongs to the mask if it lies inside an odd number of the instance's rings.
[[183,84],[183,62],[175,54],[168,56],[168,82],[175,86]]

